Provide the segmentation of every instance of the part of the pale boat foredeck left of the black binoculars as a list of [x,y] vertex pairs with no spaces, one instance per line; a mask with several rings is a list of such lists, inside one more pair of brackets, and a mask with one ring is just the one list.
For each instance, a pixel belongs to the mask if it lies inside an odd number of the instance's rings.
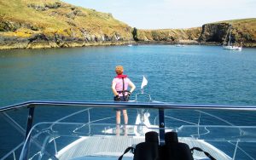
[[[63,148],[57,156],[60,160],[73,157],[99,156],[119,157],[128,146],[136,145],[145,140],[144,137],[133,136],[89,136],[82,137],[78,141]],[[125,157],[133,157],[132,153],[126,153]]]

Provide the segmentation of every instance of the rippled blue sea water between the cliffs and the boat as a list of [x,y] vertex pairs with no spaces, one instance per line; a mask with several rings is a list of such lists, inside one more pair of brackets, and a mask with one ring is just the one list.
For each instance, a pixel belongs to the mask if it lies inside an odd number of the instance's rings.
[[[27,100],[113,101],[111,83],[118,65],[124,66],[124,73],[137,86],[131,100],[141,92],[144,76],[148,79],[144,92],[151,94],[153,100],[173,104],[256,106],[256,49],[230,51],[221,46],[134,45],[0,50],[0,107]],[[60,112],[72,112],[65,109],[56,114],[52,108],[48,112],[38,110],[38,121],[61,118]],[[94,116],[101,117],[107,112],[94,112]],[[109,113],[115,114],[114,111]],[[256,126],[255,111],[236,112],[236,117],[225,111],[213,113],[236,125]],[[25,116],[22,111],[18,116],[10,115],[26,126],[25,111]],[[166,115],[181,116],[179,111]],[[182,116],[194,123],[198,121],[190,113]],[[171,120],[166,123],[172,127],[177,125]],[[207,120],[208,123],[217,122]],[[25,128],[24,124],[20,125]],[[10,128],[1,117],[0,125],[1,130]],[[0,143],[5,145],[0,146],[0,157],[18,144],[10,145],[7,138],[10,135],[15,137],[12,141],[19,141],[16,139],[21,136],[15,131],[2,133]],[[255,143],[246,147],[256,158]]]

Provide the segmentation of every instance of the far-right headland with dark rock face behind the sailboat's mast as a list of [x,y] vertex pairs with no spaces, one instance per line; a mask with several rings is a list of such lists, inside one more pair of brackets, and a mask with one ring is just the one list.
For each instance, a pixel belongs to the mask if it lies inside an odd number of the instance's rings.
[[200,43],[230,43],[246,47],[256,47],[256,19],[228,20],[202,26]]

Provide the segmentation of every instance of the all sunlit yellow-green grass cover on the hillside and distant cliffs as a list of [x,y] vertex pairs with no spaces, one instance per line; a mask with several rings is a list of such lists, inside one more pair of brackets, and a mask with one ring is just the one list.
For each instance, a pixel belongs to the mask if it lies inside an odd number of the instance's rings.
[[[232,35],[240,42],[255,43],[256,19],[225,20],[216,23],[232,24]],[[189,29],[137,30],[141,41],[196,41],[201,27]],[[107,37],[132,39],[132,28],[115,20],[112,14],[84,9],[60,0],[1,0],[0,37],[32,37],[44,33],[54,37]],[[87,36],[89,35],[89,36]]]

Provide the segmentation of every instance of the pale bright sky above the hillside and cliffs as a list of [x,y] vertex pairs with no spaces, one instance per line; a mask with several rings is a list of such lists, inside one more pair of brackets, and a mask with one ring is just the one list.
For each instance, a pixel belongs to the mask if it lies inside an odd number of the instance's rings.
[[62,0],[111,13],[138,29],[202,26],[221,20],[256,18],[256,0]]

